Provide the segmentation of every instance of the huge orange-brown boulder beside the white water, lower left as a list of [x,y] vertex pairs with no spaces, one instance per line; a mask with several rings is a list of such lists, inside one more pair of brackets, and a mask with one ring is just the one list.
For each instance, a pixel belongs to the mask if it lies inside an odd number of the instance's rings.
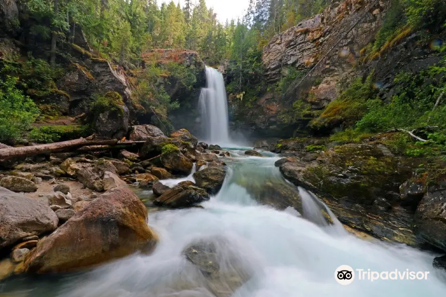
[[137,250],[149,252],[157,242],[157,235],[147,226],[147,209],[141,200],[127,188],[114,188],[42,240],[26,258],[25,271],[79,270]]

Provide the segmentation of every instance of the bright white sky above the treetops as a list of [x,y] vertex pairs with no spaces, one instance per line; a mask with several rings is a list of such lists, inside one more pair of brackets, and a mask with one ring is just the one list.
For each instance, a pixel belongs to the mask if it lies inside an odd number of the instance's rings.
[[[178,3],[178,0],[173,0]],[[195,2],[198,0],[192,0]],[[160,1],[158,1],[160,3]],[[170,0],[161,0],[161,2],[170,2]],[[181,7],[184,6],[184,0],[179,0]],[[214,7],[214,12],[217,13],[217,18],[221,23],[224,24],[226,19],[240,19],[245,14],[246,9],[248,8],[249,0],[206,0],[206,6]]]

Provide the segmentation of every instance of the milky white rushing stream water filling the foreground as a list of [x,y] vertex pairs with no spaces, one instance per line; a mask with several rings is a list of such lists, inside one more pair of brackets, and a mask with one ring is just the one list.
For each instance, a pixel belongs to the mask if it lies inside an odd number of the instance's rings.
[[[247,190],[251,184],[290,186],[274,166],[277,159],[247,157],[231,150],[231,158],[225,159],[229,174],[222,190],[202,204],[204,209],[149,214],[150,227],[160,235],[152,255],[132,255],[58,283],[38,283],[24,296],[212,297],[203,276],[185,259],[182,250],[198,239],[216,236],[226,239],[230,243],[226,248],[253,271],[252,278],[234,297],[444,296],[446,286],[440,272],[432,267],[433,255],[403,245],[360,240],[344,232],[336,219],[335,225],[324,224],[319,220],[321,203],[303,189],[299,189],[304,197],[302,215],[310,214],[317,224],[303,219],[294,209],[278,211],[259,205]],[[341,286],[334,274],[342,264],[354,269],[431,273],[426,281],[355,280]]]

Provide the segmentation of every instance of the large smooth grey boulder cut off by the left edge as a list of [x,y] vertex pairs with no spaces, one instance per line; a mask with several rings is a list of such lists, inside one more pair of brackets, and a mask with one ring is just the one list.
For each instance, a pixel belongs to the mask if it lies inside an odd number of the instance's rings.
[[52,232],[58,219],[48,205],[0,188],[0,248],[19,240]]

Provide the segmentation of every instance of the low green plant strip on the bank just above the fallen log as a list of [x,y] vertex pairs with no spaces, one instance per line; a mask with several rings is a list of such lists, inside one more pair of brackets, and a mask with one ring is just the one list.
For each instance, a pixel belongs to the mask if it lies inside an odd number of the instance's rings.
[[34,128],[29,132],[28,137],[34,142],[48,144],[87,137],[90,133],[88,126],[54,125]]

